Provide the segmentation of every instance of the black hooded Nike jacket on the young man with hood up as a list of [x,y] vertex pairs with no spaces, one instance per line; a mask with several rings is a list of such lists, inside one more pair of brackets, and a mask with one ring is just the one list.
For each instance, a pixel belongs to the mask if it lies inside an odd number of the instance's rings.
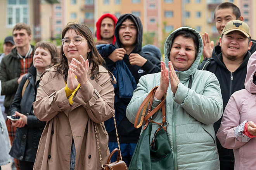
[[[161,62],[156,57],[147,55],[142,51],[142,34],[143,34],[142,22],[140,21],[139,17],[136,17],[135,15],[132,15],[132,14],[121,15],[118,19],[118,22],[116,23],[116,27],[114,31],[114,34],[116,36],[116,44],[115,44],[116,48],[122,48],[118,31],[121,24],[128,17],[130,17],[130,19],[135,23],[137,28],[137,42],[136,42],[135,48],[132,50],[131,53],[138,53],[139,55],[147,59],[147,62],[142,67],[139,67],[137,65],[130,64],[128,59],[130,54],[129,55],[125,54],[125,57],[123,58],[123,61],[127,65],[132,76],[135,78],[136,83],[138,84],[138,80],[140,79],[141,76],[145,74],[160,72]],[[109,70],[111,70],[111,68],[114,67],[114,62],[112,62],[112,60],[110,60],[109,58],[105,58],[105,61],[106,61],[106,67]],[[115,91],[115,94],[116,94],[116,91]],[[126,107],[128,106],[129,102],[130,102],[130,99],[116,100],[115,98],[115,106],[118,107],[118,110],[119,110],[118,111],[119,113],[115,113],[115,114],[125,115],[118,126],[118,135],[121,143],[137,143],[138,138],[140,136],[141,129],[136,129],[134,125],[126,117]],[[109,119],[108,122],[114,122],[113,118]],[[117,141],[116,132],[115,130],[113,130],[109,132],[109,142],[116,142],[116,141]]]

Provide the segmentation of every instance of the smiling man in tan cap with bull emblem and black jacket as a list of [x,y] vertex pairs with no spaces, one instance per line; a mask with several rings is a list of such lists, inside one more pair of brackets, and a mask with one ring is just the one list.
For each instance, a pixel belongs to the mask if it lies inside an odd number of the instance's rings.
[[[246,67],[251,56],[252,41],[249,26],[240,20],[230,21],[223,29],[220,45],[214,47],[212,58],[203,60],[200,70],[213,72],[220,82],[223,107],[225,109],[230,96],[244,89]],[[224,111],[223,109],[223,111]],[[220,120],[214,123],[214,131],[220,128]],[[217,138],[216,138],[217,139]],[[233,149],[225,149],[217,139],[221,170],[234,170]]]

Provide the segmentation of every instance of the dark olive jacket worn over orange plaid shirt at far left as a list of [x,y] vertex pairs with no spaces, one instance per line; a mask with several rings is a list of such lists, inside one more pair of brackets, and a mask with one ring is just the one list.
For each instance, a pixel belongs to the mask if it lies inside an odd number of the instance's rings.
[[[33,51],[30,57],[33,57],[34,46],[31,45],[31,48],[33,49]],[[10,54],[3,57],[0,67],[0,80],[2,82],[1,95],[5,95],[3,104],[5,106],[5,112],[8,113],[10,104],[12,103],[12,100],[19,85],[17,80],[21,75],[21,61],[20,58],[17,56],[16,48],[13,48]]]

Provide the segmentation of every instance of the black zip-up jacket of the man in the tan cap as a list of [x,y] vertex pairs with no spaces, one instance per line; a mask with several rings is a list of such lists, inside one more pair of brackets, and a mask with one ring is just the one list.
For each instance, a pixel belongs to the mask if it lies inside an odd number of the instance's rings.
[[[238,90],[244,89],[244,81],[246,78],[246,67],[247,62],[251,53],[248,51],[244,56],[244,62],[239,66],[235,72],[230,72],[222,60],[222,52],[219,45],[215,46],[213,49],[212,58],[206,58],[199,65],[199,70],[208,70],[215,74],[220,82],[220,89],[223,100],[223,108],[225,109],[230,96]],[[224,111],[223,109],[223,111]],[[220,128],[220,120],[214,123],[214,131],[217,133]],[[233,149],[223,148],[220,144],[220,141],[217,139],[217,148],[219,151],[219,157],[221,161],[234,161]]]

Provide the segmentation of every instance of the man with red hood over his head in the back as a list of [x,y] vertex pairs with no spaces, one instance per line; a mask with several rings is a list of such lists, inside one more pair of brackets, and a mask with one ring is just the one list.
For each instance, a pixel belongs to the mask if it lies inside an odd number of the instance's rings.
[[103,14],[96,22],[97,40],[103,40],[109,44],[114,44],[116,42],[114,29],[117,21],[118,19],[114,14]]

